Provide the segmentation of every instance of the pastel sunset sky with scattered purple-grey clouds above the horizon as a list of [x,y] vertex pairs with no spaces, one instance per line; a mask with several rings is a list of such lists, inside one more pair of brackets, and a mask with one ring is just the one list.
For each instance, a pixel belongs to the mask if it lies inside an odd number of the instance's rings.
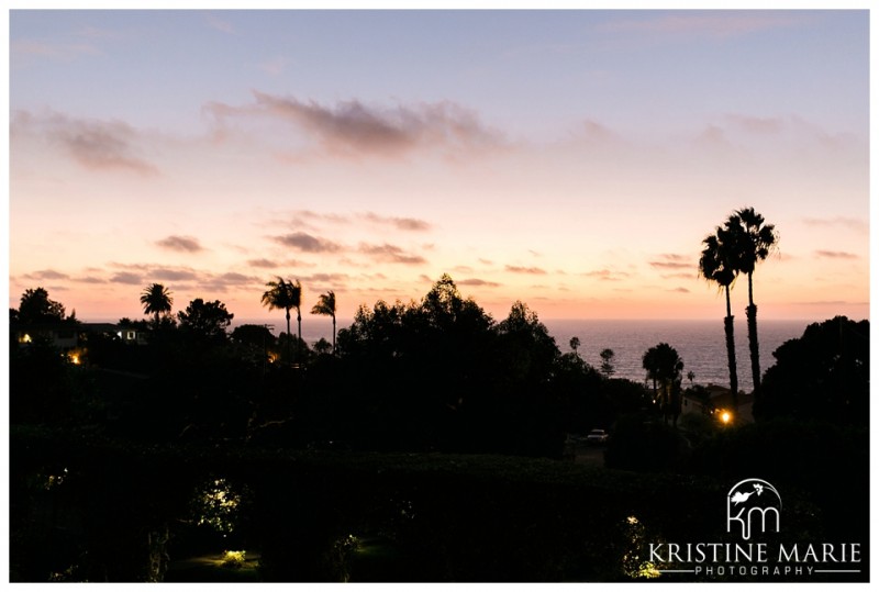
[[[869,12],[9,11],[9,305],[262,319],[420,299],[721,319],[702,238],[780,234],[764,319],[869,317]],[[744,319],[747,282],[733,291]],[[281,316],[278,316],[281,321]],[[279,326],[279,325],[278,325]]]

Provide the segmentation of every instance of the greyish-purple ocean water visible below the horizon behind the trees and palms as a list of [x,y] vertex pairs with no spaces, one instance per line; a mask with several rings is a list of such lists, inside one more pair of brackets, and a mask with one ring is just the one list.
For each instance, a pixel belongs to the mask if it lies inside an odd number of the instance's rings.
[[[283,316],[259,319],[244,323],[270,324],[272,333],[286,331]],[[726,365],[726,343],[723,319],[712,321],[611,321],[611,320],[542,320],[563,353],[570,351],[570,338],[579,337],[580,356],[591,366],[601,366],[602,349],[613,349],[614,377],[637,382],[645,380],[642,367],[644,353],[659,343],[674,347],[683,360],[683,384],[689,386],[687,373],[693,372],[693,384],[730,386]],[[351,320],[337,320],[338,328],[351,326]],[[760,372],[775,364],[772,351],[788,339],[801,337],[812,321],[757,320],[760,339]],[[235,323],[237,325],[238,323]],[[296,333],[296,320],[291,324]],[[329,317],[302,316],[302,338],[313,345],[321,337],[332,342],[332,322]],[[750,354],[748,351],[747,325],[744,315],[735,322],[736,367],[738,388],[750,391]]]

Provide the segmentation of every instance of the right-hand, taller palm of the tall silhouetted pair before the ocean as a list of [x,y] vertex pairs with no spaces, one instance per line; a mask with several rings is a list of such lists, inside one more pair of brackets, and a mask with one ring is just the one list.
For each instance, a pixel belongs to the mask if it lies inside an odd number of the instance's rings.
[[754,208],[734,212],[726,221],[726,228],[733,235],[735,268],[748,277],[748,348],[750,350],[750,372],[754,390],[760,387],[760,344],[757,339],[757,305],[754,304],[754,269],[765,260],[778,244],[775,224],[764,224],[763,215]]

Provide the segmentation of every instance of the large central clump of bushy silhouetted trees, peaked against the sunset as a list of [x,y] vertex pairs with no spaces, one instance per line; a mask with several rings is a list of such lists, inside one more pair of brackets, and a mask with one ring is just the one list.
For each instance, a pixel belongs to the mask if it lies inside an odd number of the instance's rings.
[[448,276],[421,302],[361,306],[338,332],[338,356],[311,371],[309,383],[330,382],[313,392],[337,414],[326,438],[374,448],[555,456],[566,432],[646,404],[614,400],[524,303],[496,322]]

